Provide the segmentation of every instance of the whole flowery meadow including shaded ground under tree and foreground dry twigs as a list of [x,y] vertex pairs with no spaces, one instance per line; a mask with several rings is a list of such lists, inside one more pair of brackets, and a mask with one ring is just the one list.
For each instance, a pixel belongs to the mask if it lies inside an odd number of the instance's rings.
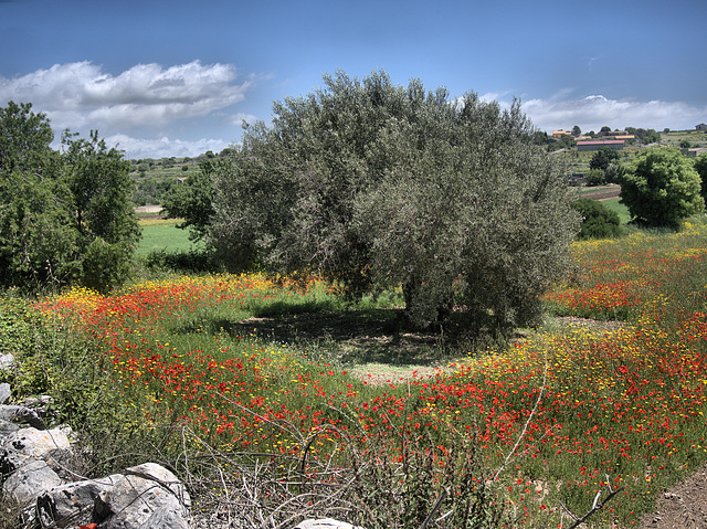
[[[545,325],[481,349],[397,328],[397,293],[349,306],[317,277],[163,274],[17,314],[74,343],[40,362],[74,394],[65,419],[112,403],[110,459],[158,454],[197,509],[272,527],[305,511],[368,528],[568,528],[589,512],[640,527],[707,462],[707,224],[572,252]],[[361,337],[388,343],[374,369]]]

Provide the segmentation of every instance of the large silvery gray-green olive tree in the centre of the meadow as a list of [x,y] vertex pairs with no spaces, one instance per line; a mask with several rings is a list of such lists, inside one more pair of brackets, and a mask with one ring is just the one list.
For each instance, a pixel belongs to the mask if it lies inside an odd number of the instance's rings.
[[344,294],[403,285],[410,318],[453,305],[499,326],[539,314],[577,215],[514,103],[342,72],[274,105],[215,171],[209,241],[225,261],[316,272]]

